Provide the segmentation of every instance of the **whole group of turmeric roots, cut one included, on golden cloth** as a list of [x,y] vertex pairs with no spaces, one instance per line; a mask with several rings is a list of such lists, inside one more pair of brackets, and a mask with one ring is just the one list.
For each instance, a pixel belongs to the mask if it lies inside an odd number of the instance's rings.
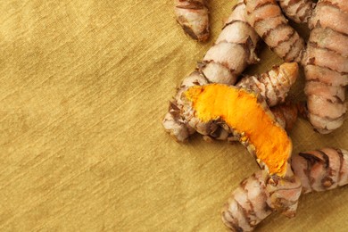
[[[175,0],[186,33],[209,37],[206,0]],[[305,42],[288,20],[308,24]],[[240,78],[260,62],[260,41],[285,63],[266,73]],[[286,101],[305,74],[306,103]],[[297,115],[328,134],[344,123],[348,84],[346,0],[237,0],[216,43],[181,83],[170,101],[164,128],[178,142],[194,133],[207,141],[239,141],[261,170],[244,179],[228,199],[222,220],[233,231],[252,231],[273,211],[294,217],[301,194],[348,183],[348,152],[338,148],[292,153],[287,131]]]

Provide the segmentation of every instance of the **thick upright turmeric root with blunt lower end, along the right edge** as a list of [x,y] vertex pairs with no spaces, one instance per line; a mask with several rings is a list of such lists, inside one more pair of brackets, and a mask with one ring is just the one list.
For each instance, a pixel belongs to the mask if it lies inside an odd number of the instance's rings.
[[341,127],[347,112],[348,7],[344,0],[321,0],[311,17],[303,57],[308,118],[321,134]]

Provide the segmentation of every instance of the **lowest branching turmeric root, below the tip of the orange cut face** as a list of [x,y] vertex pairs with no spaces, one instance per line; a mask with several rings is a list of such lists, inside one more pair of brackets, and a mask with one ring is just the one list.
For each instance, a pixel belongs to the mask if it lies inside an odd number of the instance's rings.
[[298,199],[313,191],[348,184],[348,152],[323,148],[292,157],[293,178],[269,178],[261,170],[236,188],[222,211],[224,224],[232,231],[252,231],[273,211],[293,217]]

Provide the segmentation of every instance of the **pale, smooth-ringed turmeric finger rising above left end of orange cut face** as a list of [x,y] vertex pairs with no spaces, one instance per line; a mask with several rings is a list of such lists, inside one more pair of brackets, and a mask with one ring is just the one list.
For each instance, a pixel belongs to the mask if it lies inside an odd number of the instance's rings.
[[225,22],[220,36],[198,65],[198,70],[212,83],[234,85],[247,65],[256,63],[259,36],[246,22],[245,4],[238,0]]

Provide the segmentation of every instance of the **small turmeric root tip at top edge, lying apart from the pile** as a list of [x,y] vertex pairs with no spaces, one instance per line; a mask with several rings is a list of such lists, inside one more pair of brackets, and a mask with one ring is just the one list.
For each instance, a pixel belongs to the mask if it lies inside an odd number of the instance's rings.
[[174,0],[175,16],[187,35],[198,41],[209,38],[209,10],[206,0]]

